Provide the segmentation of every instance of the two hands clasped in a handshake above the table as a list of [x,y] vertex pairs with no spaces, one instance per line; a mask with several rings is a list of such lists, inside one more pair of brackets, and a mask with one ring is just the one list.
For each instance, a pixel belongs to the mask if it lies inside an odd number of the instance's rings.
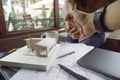
[[64,16],[66,23],[65,30],[73,39],[79,42],[91,37],[95,32],[93,24],[94,13],[85,13],[78,10],[72,10]]

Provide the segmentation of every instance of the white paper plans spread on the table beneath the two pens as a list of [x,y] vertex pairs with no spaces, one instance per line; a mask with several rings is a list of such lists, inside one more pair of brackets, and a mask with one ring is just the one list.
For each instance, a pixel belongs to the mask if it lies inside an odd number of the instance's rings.
[[[60,50],[53,66],[47,71],[21,69],[10,80],[77,80],[64,70],[62,70],[58,64],[62,64],[75,71],[76,73],[85,76],[90,80],[106,80],[105,76],[98,73],[87,70],[76,64],[76,61],[91,51],[94,47],[87,46],[85,44],[68,44],[64,43],[60,45]],[[74,54],[57,59],[65,53],[75,51]]]

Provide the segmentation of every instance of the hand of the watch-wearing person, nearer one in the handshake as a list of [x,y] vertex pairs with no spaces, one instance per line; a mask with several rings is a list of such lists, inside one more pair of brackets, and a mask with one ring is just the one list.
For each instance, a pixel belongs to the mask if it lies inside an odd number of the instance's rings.
[[74,27],[79,32],[79,42],[92,36],[96,30],[93,24],[94,13],[85,13],[82,11],[73,10],[71,12],[73,16],[72,20],[69,21],[70,26]]

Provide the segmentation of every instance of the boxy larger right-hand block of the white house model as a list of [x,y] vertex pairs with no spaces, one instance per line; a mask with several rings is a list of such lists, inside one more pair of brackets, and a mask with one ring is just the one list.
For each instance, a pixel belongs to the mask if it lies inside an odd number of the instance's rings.
[[55,47],[56,45],[55,38],[44,38],[40,42],[36,44],[36,55],[40,57],[47,57],[49,52]]

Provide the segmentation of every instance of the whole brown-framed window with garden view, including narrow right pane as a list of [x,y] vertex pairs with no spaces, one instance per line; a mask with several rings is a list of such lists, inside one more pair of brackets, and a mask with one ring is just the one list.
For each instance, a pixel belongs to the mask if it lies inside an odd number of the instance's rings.
[[[59,2],[58,2],[59,1]],[[20,34],[26,31],[39,32],[43,30],[64,27],[61,14],[64,0],[2,0],[0,13],[2,19],[1,33],[4,36]],[[60,4],[58,4],[60,3]],[[2,36],[0,35],[0,37]]]

